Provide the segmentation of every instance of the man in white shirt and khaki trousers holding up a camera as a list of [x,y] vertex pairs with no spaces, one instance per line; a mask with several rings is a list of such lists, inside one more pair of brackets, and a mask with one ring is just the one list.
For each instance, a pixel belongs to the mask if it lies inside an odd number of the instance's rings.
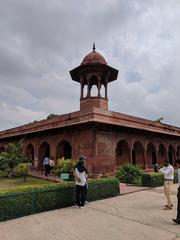
[[173,208],[171,200],[171,187],[174,180],[174,168],[167,160],[165,160],[164,167],[160,168],[159,171],[164,174],[164,193],[167,199],[167,204],[164,205],[163,209],[171,210]]

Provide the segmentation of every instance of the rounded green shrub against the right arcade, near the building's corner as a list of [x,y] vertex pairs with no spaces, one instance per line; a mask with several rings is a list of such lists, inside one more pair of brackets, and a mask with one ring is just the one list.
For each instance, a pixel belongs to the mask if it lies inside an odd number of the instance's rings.
[[120,167],[115,176],[124,183],[136,183],[141,177],[142,169],[138,166],[127,163]]

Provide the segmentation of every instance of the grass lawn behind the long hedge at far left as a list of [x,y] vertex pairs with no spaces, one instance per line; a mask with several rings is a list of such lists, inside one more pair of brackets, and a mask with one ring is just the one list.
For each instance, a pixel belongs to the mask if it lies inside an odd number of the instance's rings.
[[26,181],[24,182],[23,178],[17,177],[7,177],[6,172],[0,171],[0,189],[4,188],[15,188],[18,186],[27,186],[27,185],[36,185],[36,184],[48,184],[52,183],[51,181],[36,178],[36,177],[27,177]]

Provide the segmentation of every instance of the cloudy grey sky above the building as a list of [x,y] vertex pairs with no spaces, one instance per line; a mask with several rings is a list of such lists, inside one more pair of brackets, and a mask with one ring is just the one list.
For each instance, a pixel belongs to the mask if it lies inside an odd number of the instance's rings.
[[78,111],[69,71],[119,70],[109,109],[180,127],[179,0],[0,0],[0,130]]

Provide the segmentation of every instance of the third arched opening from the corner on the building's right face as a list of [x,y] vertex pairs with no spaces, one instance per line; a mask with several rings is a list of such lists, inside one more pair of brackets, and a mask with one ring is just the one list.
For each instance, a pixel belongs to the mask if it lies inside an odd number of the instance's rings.
[[156,148],[153,143],[148,143],[146,150],[147,168],[152,168],[157,163]]

